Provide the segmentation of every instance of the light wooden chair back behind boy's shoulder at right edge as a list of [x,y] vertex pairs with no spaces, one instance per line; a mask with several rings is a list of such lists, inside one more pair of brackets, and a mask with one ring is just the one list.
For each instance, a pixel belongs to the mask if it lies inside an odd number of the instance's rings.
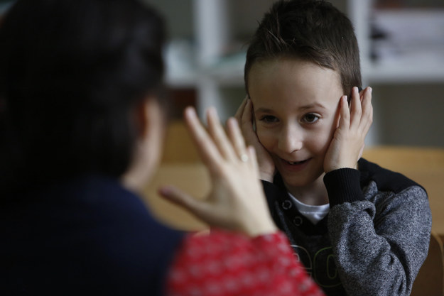
[[401,172],[422,185],[432,212],[432,234],[428,256],[413,283],[411,295],[444,295],[444,149],[373,147],[364,158],[389,170]]

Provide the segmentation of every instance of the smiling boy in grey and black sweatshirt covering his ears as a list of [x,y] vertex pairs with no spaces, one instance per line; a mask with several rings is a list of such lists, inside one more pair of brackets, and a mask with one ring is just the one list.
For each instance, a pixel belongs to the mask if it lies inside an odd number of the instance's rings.
[[325,1],[278,1],[247,50],[237,119],[274,221],[326,294],[410,295],[428,252],[428,197],[360,158],[372,89],[359,93],[359,68],[343,13]]

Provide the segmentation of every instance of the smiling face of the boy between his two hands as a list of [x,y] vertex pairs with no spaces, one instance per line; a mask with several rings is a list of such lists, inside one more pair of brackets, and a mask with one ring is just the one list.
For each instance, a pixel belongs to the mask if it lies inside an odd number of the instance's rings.
[[288,189],[322,182],[342,96],[338,73],[291,58],[256,62],[249,94],[259,141]]

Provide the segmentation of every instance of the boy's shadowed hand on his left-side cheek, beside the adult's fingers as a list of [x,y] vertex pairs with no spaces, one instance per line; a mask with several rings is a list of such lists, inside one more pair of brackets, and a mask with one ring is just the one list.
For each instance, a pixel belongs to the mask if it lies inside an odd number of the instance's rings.
[[275,166],[270,153],[262,146],[256,132],[253,129],[253,104],[251,99],[245,97],[234,118],[239,122],[242,134],[247,145],[253,146],[256,150],[257,161],[259,163],[259,175],[261,180],[273,182]]

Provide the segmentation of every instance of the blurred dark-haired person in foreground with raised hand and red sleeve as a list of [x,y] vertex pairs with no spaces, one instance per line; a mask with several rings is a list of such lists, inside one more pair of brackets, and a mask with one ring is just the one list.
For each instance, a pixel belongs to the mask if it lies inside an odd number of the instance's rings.
[[18,0],[7,13],[1,295],[322,295],[271,219],[236,120],[225,132],[209,109],[205,128],[188,108],[212,190],[161,188],[210,235],[168,229],[137,197],[166,125],[163,40],[135,0]]

